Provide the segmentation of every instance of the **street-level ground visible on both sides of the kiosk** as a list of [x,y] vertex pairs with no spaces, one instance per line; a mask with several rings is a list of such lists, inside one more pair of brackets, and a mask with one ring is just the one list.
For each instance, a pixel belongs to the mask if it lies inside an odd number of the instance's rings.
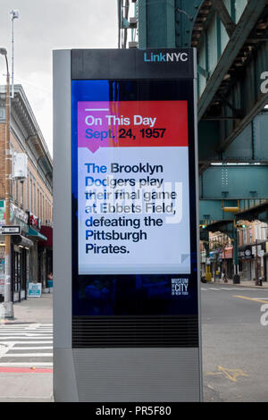
[[[205,401],[268,400],[265,302],[266,282],[201,283]],[[0,320],[0,402],[53,402],[53,293],[13,308]]]

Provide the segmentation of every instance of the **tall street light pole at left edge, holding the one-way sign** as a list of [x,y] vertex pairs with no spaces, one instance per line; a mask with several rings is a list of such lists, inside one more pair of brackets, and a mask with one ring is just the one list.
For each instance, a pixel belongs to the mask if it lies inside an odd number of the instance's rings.
[[[10,78],[5,48],[0,48],[0,54],[4,55],[6,63],[6,91],[5,91],[5,158],[4,158],[4,200],[5,200],[5,224],[10,224],[10,179],[12,170],[12,154],[10,149]],[[4,308],[2,318],[13,319],[12,283],[11,283],[11,236],[5,235],[4,254]]]

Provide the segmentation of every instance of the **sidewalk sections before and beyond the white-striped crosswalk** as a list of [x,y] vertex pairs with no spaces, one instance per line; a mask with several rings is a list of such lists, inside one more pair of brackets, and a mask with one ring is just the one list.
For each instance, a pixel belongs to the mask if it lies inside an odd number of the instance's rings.
[[[53,293],[13,305],[14,319],[0,320],[0,331],[20,323],[53,323]],[[1,348],[0,348],[1,349]],[[0,359],[1,361],[1,359]],[[53,402],[53,373],[48,368],[1,367],[0,402]]]

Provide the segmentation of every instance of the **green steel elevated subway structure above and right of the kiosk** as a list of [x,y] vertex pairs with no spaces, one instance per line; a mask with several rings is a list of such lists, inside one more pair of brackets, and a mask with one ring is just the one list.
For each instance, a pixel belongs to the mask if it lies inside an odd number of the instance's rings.
[[[119,0],[121,48],[197,48],[200,239],[268,222],[268,1]],[[208,276],[209,277],[209,276]],[[256,278],[255,281],[258,281]]]

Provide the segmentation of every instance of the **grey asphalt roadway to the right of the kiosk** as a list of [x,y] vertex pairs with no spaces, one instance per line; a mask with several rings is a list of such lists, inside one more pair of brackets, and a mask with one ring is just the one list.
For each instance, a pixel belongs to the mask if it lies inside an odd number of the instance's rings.
[[201,284],[204,400],[268,401],[268,288]]

